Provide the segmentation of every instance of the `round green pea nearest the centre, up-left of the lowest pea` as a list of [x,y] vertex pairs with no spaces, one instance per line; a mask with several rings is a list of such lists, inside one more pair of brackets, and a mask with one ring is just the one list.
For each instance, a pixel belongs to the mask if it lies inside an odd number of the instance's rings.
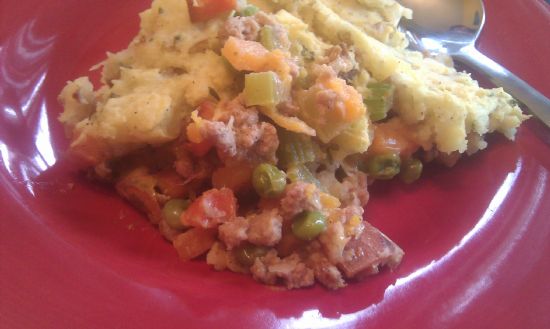
[[252,185],[260,196],[273,198],[285,190],[286,174],[273,165],[262,163],[252,173]]

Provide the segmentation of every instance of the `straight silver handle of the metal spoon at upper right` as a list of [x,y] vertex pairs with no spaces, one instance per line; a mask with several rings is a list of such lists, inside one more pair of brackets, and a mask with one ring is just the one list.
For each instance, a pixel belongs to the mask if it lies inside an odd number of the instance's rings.
[[492,83],[504,88],[507,93],[525,104],[532,114],[550,127],[550,99],[535,88],[480,53],[474,46],[462,48],[454,58],[480,73],[485,73]]

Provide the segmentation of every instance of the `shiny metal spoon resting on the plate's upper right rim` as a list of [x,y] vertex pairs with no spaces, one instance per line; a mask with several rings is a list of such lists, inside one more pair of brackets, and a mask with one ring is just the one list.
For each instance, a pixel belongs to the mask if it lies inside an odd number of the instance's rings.
[[400,0],[413,10],[413,19],[402,19],[400,28],[410,48],[446,53],[525,104],[532,114],[550,127],[550,100],[475,48],[485,23],[482,0]]

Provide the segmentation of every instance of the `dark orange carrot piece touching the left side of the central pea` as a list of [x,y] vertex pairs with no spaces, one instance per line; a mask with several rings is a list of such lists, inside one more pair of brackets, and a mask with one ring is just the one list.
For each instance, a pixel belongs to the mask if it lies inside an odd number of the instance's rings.
[[212,186],[215,188],[227,187],[234,192],[252,188],[252,171],[254,168],[247,164],[238,164],[231,167],[220,167],[212,174]]

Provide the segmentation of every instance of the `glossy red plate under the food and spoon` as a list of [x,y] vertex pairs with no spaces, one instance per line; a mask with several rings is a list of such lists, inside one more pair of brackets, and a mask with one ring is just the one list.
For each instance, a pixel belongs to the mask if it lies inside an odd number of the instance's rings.
[[[146,0],[2,0],[0,327],[548,328],[550,130],[529,120],[452,170],[378,184],[395,272],[284,291],[181,263],[110,189],[63,168],[65,81],[122,49]],[[550,96],[550,6],[486,1],[479,48]]]

